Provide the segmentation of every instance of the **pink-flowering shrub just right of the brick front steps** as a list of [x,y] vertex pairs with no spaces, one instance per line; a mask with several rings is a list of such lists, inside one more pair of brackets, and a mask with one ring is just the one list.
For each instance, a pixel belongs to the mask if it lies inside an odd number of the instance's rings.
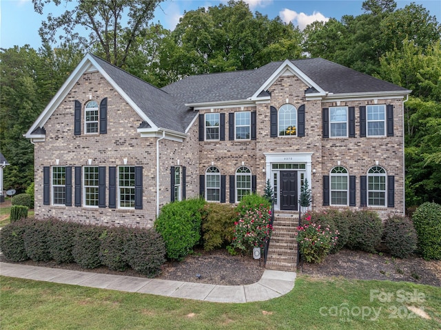
[[311,223],[311,216],[307,216],[305,220],[307,224],[298,226],[296,232],[300,253],[307,262],[320,263],[327,257],[331,247],[336,245],[338,230],[331,231],[329,226]]

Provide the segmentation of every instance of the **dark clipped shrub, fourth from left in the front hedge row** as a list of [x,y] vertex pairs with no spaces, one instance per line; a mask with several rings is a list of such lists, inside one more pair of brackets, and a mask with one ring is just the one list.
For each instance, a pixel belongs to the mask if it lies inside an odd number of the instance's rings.
[[72,256],[74,261],[83,268],[95,268],[101,265],[99,258],[100,240],[103,227],[82,225],[74,235]]

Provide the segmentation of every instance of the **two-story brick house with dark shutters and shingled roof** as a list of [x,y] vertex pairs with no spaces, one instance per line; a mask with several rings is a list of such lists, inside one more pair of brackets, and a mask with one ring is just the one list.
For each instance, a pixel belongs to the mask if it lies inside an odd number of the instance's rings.
[[161,207],[202,195],[263,194],[297,210],[404,214],[397,85],[325,59],[189,76],[158,89],[92,54],[30,127],[35,214],[150,227]]

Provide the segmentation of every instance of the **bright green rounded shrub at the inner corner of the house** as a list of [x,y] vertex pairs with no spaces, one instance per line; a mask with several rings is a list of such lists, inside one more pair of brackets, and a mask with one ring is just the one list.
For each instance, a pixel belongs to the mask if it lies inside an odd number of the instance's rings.
[[201,240],[205,200],[192,198],[164,205],[154,222],[163,236],[167,257],[183,260]]

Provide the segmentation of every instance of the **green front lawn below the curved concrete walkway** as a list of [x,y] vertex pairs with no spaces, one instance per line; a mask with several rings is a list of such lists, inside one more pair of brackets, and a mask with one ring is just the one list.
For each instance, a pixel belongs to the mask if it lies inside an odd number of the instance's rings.
[[[287,295],[247,304],[166,298],[4,276],[0,284],[3,330],[439,329],[441,322],[441,288],[409,282],[298,276]],[[420,307],[431,319],[416,316],[407,306]],[[345,307],[349,307],[349,316],[340,315]]]

